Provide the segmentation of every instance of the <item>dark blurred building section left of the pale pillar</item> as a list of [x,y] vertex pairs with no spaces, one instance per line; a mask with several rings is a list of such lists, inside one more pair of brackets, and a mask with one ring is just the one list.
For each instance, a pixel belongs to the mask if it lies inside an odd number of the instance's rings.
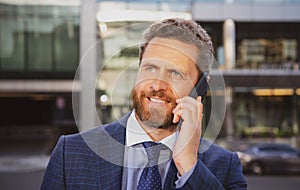
[[0,140],[49,145],[76,132],[80,1],[1,0],[0,15]]

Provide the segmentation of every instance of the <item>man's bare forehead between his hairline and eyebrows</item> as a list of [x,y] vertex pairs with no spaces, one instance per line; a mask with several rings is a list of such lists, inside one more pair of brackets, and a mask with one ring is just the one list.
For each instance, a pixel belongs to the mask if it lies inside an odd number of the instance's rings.
[[198,48],[176,39],[158,38],[150,40],[142,59],[159,59],[175,65],[195,69]]

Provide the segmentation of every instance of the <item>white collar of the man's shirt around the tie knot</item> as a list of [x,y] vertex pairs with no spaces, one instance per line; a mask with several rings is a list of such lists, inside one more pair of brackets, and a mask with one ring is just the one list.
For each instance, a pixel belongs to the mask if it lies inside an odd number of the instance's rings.
[[[166,145],[170,150],[173,150],[175,141],[177,139],[177,134],[178,132],[175,132],[165,137],[159,142]],[[142,128],[142,126],[140,126],[139,122],[136,119],[135,111],[133,110],[127,121],[126,145],[130,147],[145,141],[153,141],[153,140],[147,135],[145,130]]]

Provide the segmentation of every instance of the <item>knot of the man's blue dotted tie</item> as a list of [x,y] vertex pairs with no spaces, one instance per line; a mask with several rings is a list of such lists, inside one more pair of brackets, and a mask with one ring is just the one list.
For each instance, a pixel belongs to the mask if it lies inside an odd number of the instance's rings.
[[142,144],[148,155],[148,166],[151,167],[157,165],[159,154],[163,145],[161,143],[155,143],[151,141],[143,142]]

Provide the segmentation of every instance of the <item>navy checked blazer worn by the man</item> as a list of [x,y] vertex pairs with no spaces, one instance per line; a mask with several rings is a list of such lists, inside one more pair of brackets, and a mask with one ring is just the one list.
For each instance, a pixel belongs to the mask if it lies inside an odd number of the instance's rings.
[[[80,134],[61,136],[41,189],[121,189],[128,117]],[[201,141],[200,146],[204,143]],[[177,169],[172,161],[163,189],[175,189],[176,180]],[[213,144],[199,153],[196,167],[181,189],[247,189],[247,184],[236,153]]]

